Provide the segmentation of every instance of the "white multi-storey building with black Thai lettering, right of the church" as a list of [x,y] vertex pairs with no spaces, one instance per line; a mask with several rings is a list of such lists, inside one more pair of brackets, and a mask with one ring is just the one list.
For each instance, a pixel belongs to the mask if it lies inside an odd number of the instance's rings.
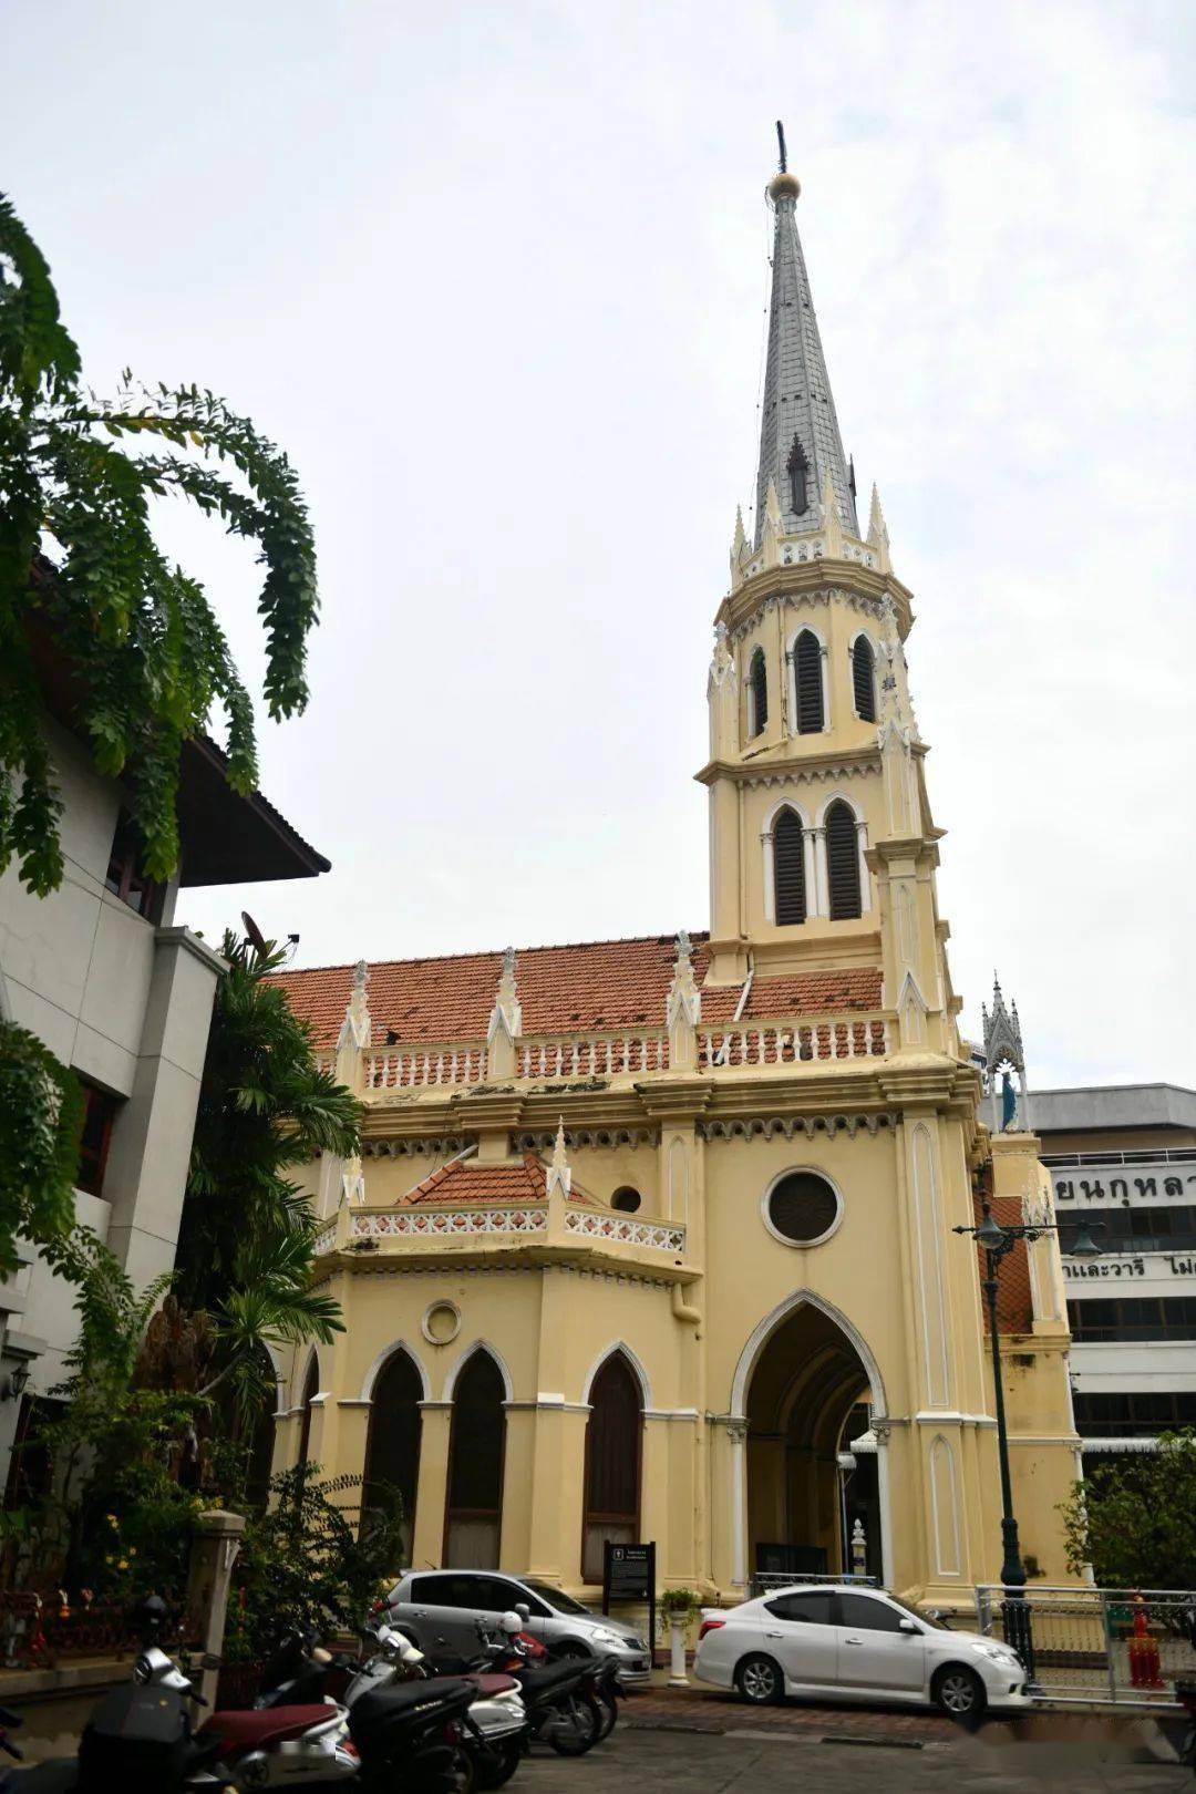
[[[1062,1227],[1085,1462],[1151,1450],[1196,1426],[1196,1091],[1035,1091],[1033,1127]],[[1067,1256],[1079,1220],[1101,1258]]]

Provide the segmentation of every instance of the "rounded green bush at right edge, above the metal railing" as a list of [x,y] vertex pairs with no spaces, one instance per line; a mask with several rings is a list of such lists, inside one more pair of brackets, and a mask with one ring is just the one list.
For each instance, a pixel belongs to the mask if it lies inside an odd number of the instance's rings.
[[1062,1503],[1067,1563],[1103,1588],[1196,1589],[1196,1433],[1097,1464]]

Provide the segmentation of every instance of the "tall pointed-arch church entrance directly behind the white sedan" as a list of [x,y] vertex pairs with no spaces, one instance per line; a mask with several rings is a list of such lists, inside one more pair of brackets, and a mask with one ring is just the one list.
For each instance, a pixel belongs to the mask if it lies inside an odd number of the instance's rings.
[[[880,1572],[875,1451],[852,1453],[877,1399],[848,1333],[812,1301],[796,1302],[760,1344],[750,1369],[748,1575],[843,1575],[854,1521]],[[861,1426],[862,1421],[862,1426]]]

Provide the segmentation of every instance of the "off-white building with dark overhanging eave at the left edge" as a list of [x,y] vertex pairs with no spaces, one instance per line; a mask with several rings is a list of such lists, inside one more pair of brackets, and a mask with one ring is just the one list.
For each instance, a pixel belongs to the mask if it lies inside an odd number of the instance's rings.
[[[238,797],[221,750],[183,748],[181,868],[138,875],[127,791],[47,718],[65,802],[66,875],[32,897],[0,877],[0,1015],[39,1035],[84,1087],[75,1213],[140,1286],[174,1263],[212,1001],[224,962],[176,926],[179,890],[312,877],[328,861],[264,797]],[[230,915],[230,920],[233,917]],[[20,1500],[9,1460],[34,1403],[61,1380],[75,1338],[74,1290],[32,1252],[0,1281],[0,1489]]]

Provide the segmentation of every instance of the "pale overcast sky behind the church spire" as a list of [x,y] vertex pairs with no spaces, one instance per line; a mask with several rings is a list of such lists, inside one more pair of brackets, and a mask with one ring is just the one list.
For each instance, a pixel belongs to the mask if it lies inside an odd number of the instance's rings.
[[[755,474],[784,117],[907,653],[965,1024],[1196,1084],[1192,45],[1133,5],[7,0],[0,181],[88,379],[290,452],[334,861],[301,965],[705,927],[710,624]],[[260,671],[251,553],[172,511]]]

